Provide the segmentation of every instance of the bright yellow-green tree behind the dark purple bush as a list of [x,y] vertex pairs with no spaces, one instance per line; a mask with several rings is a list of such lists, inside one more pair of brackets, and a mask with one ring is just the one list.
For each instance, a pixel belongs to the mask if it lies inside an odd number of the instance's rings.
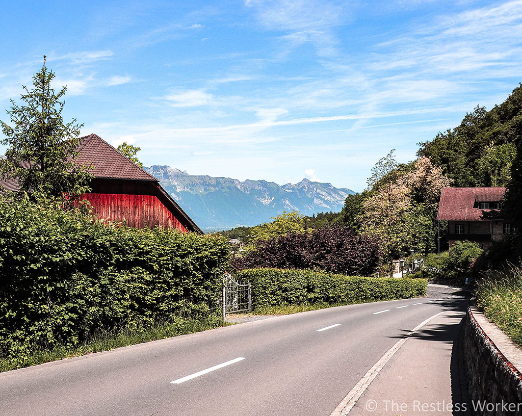
[[298,211],[283,211],[281,215],[272,217],[274,221],[256,225],[251,231],[250,244],[246,251],[255,249],[255,243],[261,240],[277,239],[290,232],[304,233],[306,231],[304,217]]

